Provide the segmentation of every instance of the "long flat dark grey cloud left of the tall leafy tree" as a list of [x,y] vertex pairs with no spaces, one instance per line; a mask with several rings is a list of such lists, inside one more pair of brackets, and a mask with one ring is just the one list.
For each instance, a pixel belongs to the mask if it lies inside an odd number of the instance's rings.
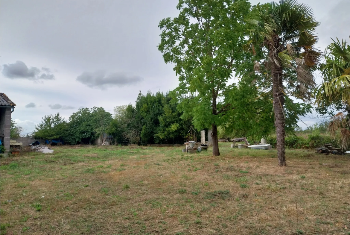
[[139,76],[127,76],[121,73],[113,73],[106,76],[104,71],[83,72],[76,79],[78,82],[87,85],[90,88],[106,89],[109,86],[123,87],[143,81]]

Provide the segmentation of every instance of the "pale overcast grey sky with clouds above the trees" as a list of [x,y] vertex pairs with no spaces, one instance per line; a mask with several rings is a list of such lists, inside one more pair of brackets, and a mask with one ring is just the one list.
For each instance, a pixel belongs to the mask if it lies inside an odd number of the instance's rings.
[[[0,92],[17,105],[12,118],[31,132],[44,115],[60,112],[68,118],[92,106],[112,113],[114,106],[134,104],[139,90],[174,89],[173,65],[163,62],[156,46],[159,21],[178,15],[177,2],[1,0]],[[349,41],[349,0],[303,3],[321,22],[320,50],[331,37]]]

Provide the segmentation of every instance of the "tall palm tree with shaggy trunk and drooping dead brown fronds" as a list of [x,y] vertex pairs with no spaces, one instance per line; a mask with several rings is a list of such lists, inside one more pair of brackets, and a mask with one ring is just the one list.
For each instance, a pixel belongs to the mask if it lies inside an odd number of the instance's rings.
[[309,90],[315,86],[311,68],[316,67],[321,55],[314,48],[317,37],[313,34],[319,22],[310,7],[296,0],[254,6],[252,15],[248,20],[252,26],[249,46],[253,54],[256,45],[262,50],[263,57],[255,67],[264,76],[265,86],[272,90],[278,165],[286,166],[285,97],[310,101]]

